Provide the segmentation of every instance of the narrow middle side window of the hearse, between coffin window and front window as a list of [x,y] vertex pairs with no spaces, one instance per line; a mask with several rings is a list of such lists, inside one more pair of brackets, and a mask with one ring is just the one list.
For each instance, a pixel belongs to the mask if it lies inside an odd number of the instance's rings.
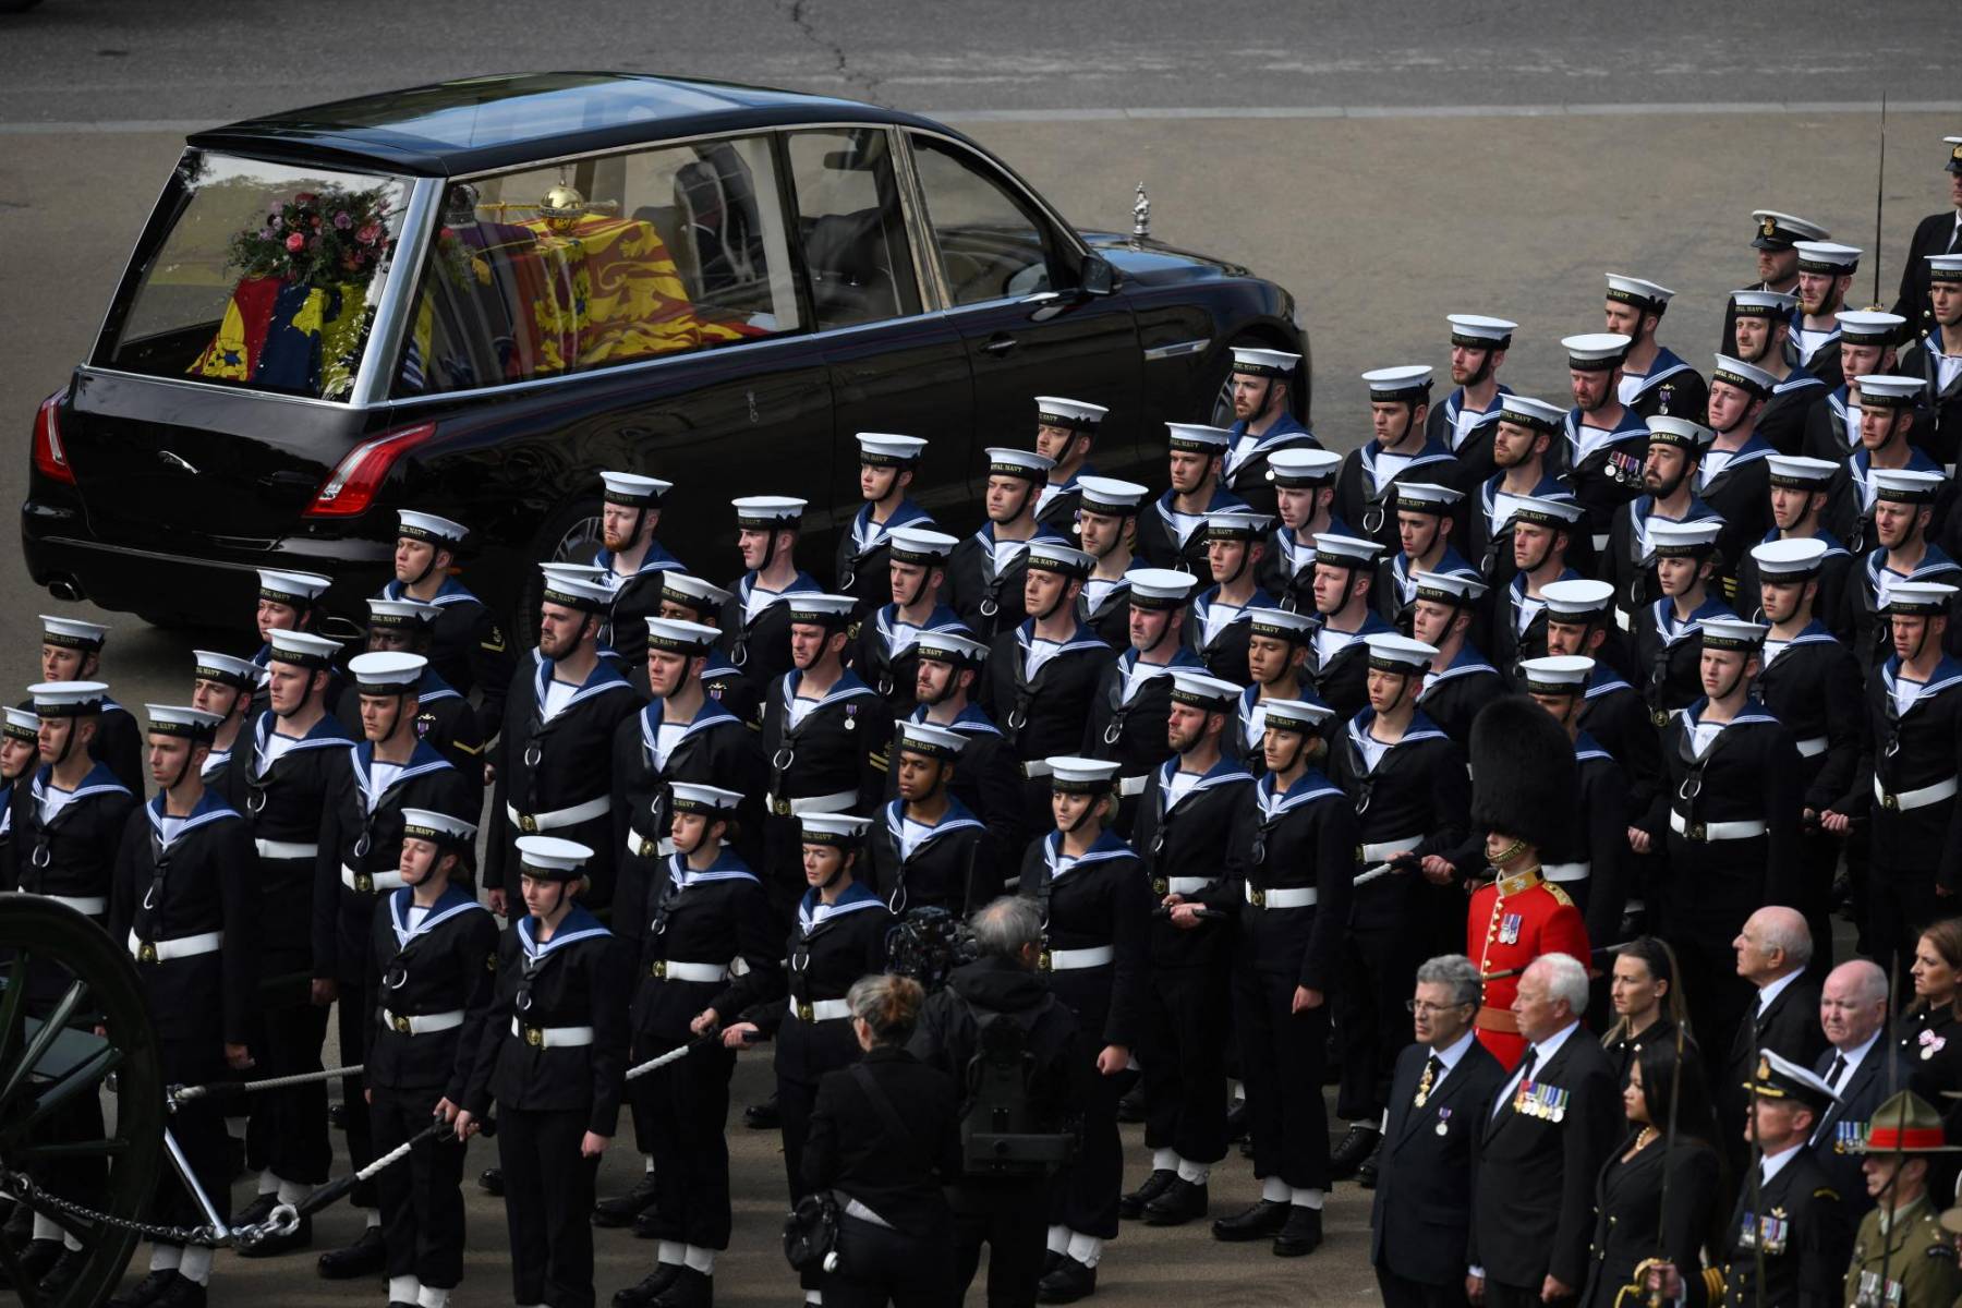
[[797,235],[818,327],[918,314],[920,288],[885,129],[799,131],[789,145]]

